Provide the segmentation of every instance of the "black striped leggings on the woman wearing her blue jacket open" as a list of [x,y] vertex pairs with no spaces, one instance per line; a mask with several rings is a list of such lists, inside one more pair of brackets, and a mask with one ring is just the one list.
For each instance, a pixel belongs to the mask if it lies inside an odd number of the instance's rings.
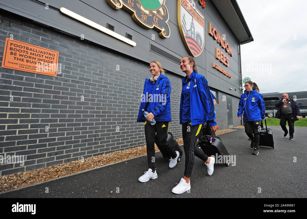
[[[202,124],[192,126],[191,120],[188,120],[186,123],[182,123],[182,138],[183,138],[183,148],[185,150],[185,176],[191,177],[193,165],[194,165],[194,150],[195,143],[201,135]],[[197,150],[197,149],[196,149]],[[200,149],[197,150],[200,159],[205,159],[206,156],[204,153],[200,152]],[[196,155],[196,154],[195,154]],[[208,157],[207,157],[208,159]],[[206,160],[207,160],[206,159]],[[205,160],[204,160],[205,161]]]

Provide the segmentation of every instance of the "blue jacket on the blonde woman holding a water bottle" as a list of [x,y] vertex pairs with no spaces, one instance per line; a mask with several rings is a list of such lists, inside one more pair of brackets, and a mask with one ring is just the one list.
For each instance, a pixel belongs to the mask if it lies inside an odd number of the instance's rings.
[[145,122],[146,118],[142,112],[142,109],[148,107],[148,103],[152,102],[151,108],[147,109],[147,112],[152,112],[154,120],[156,122],[171,122],[171,103],[170,96],[172,86],[168,79],[163,74],[160,74],[156,81],[152,93],[149,93],[150,87],[152,86],[150,79],[146,78],[144,84],[144,91],[142,94],[141,106],[138,111],[137,122]]

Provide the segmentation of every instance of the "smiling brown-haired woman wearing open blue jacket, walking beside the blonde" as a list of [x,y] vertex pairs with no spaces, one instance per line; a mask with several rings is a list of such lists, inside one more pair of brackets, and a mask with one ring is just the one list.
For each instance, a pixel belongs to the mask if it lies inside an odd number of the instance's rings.
[[[197,74],[197,67],[192,56],[181,59],[180,68],[186,76],[182,79],[182,92],[180,100],[179,119],[182,124],[183,147],[185,150],[185,172],[183,178],[172,192],[184,193],[191,188],[190,176],[194,164],[195,143],[200,137],[200,131],[204,123],[208,124],[214,132],[218,125],[214,121],[214,104],[206,78]],[[200,151],[197,151],[200,152]],[[201,151],[202,152],[202,151]],[[201,153],[200,152],[200,153]],[[214,157],[208,157],[203,152],[195,153],[205,161],[208,175],[213,173]]]

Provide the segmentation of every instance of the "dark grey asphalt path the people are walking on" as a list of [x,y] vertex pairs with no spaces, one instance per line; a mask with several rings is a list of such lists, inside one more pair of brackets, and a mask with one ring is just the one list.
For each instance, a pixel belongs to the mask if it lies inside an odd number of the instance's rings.
[[147,158],[142,156],[2,192],[0,198],[306,198],[307,127],[295,127],[294,140],[283,137],[280,126],[268,128],[273,130],[275,148],[261,146],[259,155],[252,155],[244,129],[219,135],[235,162],[228,167],[215,164],[208,176],[204,162],[196,157],[189,193],[172,193],[183,177],[185,155],[169,168],[169,160],[156,152],[158,178],[146,183],[138,182],[147,171]]

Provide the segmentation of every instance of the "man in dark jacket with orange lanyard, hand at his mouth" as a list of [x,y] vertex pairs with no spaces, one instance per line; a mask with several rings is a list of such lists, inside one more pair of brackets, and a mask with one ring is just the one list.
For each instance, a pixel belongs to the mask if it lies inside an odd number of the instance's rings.
[[280,119],[280,126],[285,132],[284,137],[288,135],[288,130],[286,128],[286,122],[288,121],[290,140],[293,140],[294,133],[294,122],[300,118],[300,107],[297,105],[293,98],[289,97],[287,93],[282,94],[282,99],[278,100],[275,104],[278,111],[275,118]]

